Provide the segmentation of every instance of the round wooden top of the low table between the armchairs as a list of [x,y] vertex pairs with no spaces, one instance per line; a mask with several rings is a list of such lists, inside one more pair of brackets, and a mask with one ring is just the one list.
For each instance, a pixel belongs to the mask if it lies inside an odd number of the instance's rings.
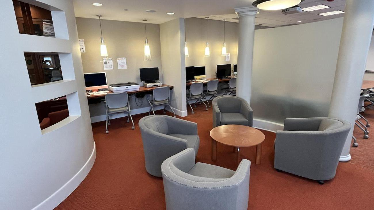
[[255,128],[242,125],[223,125],[210,131],[210,136],[217,142],[229,146],[256,146],[265,140],[265,135]]

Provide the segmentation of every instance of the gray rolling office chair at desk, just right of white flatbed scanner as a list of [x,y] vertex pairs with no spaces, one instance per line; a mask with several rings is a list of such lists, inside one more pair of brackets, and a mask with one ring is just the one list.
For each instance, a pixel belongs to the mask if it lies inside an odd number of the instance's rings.
[[[151,98],[152,97],[152,98]],[[170,106],[170,89],[169,86],[165,87],[156,87],[153,89],[153,95],[147,96],[148,103],[151,105],[151,109],[149,110],[148,114],[150,114],[151,110],[154,115],[153,107],[155,106],[163,106],[163,113],[165,114],[165,106],[169,106],[171,111],[176,117],[173,108]]]

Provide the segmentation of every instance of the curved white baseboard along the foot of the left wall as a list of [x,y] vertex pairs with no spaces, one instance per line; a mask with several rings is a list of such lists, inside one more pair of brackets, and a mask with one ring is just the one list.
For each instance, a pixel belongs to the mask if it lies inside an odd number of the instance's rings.
[[83,167],[76,173],[68,182],[66,182],[61,188],[50,195],[42,203],[38,204],[33,210],[41,209],[54,209],[58,204],[60,204],[65,198],[67,198],[74,189],[86,178],[88,172],[90,172],[93,163],[96,159],[96,144],[93,142],[93,150],[91,156],[88,158],[87,162]]

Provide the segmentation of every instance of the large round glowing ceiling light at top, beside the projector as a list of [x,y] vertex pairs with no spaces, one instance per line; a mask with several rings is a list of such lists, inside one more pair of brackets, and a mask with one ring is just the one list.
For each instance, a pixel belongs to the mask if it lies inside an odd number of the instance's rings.
[[293,7],[302,1],[304,0],[256,0],[252,5],[263,10],[279,10]]

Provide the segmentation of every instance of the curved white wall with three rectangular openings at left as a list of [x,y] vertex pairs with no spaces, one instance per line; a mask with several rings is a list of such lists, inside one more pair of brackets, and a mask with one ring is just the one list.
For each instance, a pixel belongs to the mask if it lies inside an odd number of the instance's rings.
[[[71,0],[25,0],[53,10],[56,38],[19,34],[12,1],[0,7],[0,206],[52,209],[96,157]],[[48,6],[49,5],[49,6]],[[58,52],[64,80],[31,87],[24,52]],[[70,116],[40,131],[35,103],[67,94]]]

